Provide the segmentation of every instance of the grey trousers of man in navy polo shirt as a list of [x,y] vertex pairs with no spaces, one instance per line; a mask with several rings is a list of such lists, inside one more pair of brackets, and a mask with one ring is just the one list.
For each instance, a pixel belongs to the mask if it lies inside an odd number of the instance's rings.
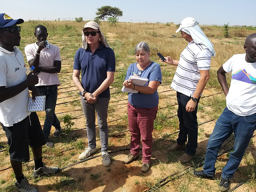
[[98,126],[100,130],[100,144],[101,152],[108,151],[108,103],[109,97],[97,98],[94,103],[86,103],[81,96],[81,103],[86,119],[86,131],[88,138],[88,147],[96,147],[96,124],[95,124],[95,110],[97,112]]

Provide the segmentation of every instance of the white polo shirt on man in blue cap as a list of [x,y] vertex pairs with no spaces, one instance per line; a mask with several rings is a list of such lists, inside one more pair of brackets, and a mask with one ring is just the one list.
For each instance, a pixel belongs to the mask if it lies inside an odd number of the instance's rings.
[[[14,52],[0,47],[0,86],[12,87],[27,79],[26,65],[20,50],[14,46]],[[6,127],[13,126],[25,119],[28,108],[28,88],[18,95],[0,103],[0,122]]]

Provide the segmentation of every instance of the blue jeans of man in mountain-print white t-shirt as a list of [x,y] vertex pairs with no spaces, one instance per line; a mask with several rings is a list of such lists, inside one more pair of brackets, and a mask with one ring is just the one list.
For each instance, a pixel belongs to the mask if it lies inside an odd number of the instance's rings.
[[203,167],[204,172],[209,176],[215,174],[215,162],[220,147],[234,132],[234,151],[230,153],[228,162],[222,169],[221,174],[224,179],[232,178],[244,156],[255,127],[256,113],[249,116],[238,116],[226,107],[216,121],[214,130],[208,140]]

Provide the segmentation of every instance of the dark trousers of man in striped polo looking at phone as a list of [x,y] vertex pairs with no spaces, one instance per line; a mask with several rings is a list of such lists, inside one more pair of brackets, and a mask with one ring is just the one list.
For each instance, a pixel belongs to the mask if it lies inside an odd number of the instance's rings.
[[198,98],[196,103],[196,108],[192,112],[186,111],[186,105],[191,97],[184,95],[180,92],[177,92],[177,101],[178,101],[178,118],[179,118],[179,137],[177,139],[177,143],[179,145],[185,143],[188,138],[188,143],[185,149],[185,153],[190,156],[196,154],[197,148],[197,132],[198,132],[198,124],[197,124],[197,106],[200,98]]

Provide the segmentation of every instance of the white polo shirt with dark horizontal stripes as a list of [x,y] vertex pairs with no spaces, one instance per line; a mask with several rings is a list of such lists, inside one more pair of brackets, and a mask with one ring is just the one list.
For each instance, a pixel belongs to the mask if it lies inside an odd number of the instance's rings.
[[211,57],[212,53],[206,46],[189,42],[180,54],[171,87],[188,97],[193,96],[201,77],[199,70],[210,70]]

